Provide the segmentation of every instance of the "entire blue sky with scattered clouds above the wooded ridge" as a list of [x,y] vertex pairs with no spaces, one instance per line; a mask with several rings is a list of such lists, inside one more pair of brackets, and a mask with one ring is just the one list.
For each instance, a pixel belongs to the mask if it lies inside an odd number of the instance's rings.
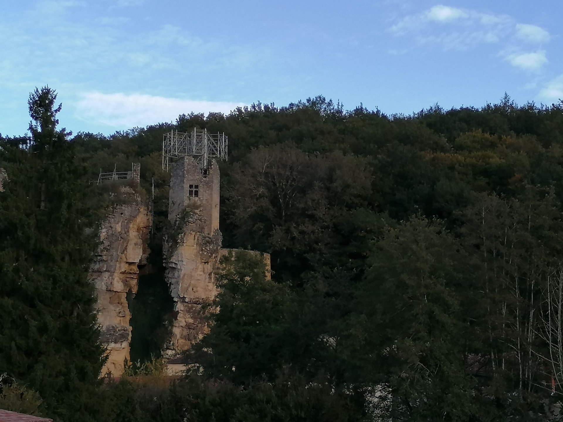
[[560,0],[0,0],[0,133],[59,93],[61,126],[324,95],[384,113],[563,98]]

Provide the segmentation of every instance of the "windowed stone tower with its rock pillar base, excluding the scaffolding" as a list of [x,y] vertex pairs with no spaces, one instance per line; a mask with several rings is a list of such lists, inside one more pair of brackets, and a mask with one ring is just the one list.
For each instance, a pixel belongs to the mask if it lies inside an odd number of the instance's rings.
[[191,156],[172,165],[168,218],[173,228],[165,246],[165,266],[175,318],[165,354],[171,357],[207,332],[202,306],[217,293],[215,271],[221,232],[219,168],[215,161],[205,173]]

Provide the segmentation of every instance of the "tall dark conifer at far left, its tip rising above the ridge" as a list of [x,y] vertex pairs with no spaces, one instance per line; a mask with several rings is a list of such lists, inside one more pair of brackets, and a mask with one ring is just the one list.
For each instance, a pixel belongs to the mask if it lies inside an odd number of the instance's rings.
[[30,137],[0,145],[0,373],[37,390],[44,414],[91,420],[103,352],[88,281],[95,220],[56,97],[36,88]]

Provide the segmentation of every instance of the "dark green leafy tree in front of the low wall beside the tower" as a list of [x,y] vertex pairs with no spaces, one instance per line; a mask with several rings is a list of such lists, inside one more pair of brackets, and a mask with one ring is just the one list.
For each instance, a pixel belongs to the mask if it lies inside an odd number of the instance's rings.
[[272,376],[288,363],[292,295],[266,279],[259,256],[227,255],[222,268],[220,292],[209,308],[212,331],[194,345],[190,358],[214,378],[248,383]]

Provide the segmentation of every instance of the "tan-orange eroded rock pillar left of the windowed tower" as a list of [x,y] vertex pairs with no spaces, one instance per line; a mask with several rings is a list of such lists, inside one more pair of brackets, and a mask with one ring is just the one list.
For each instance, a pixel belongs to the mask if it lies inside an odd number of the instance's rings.
[[136,293],[138,266],[146,263],[151,216],[140,197],[124,192],[128,203],[114,206],[100,228],[100,246],[90,269],[97,294],[101,341],[108,361],[102,375],[119,376],[123,362],[130,358],[131,313],[127,293]]

